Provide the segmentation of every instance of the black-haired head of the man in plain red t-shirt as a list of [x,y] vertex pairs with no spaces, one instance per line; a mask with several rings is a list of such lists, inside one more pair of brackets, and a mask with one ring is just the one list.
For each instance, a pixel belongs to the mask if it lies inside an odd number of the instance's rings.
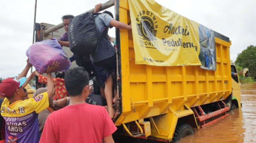
[[65,72],[65,87],[69,96],[83,96],[85,99],[89,94],[89,75],[82,67],[75,67]]

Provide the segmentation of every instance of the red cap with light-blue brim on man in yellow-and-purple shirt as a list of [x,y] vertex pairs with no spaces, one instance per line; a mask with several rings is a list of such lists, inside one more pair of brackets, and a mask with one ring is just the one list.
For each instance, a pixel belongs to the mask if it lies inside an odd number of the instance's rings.
[[20,88],[25,82],[27,78],[21,77],[19,80],[16,80],[12,77],[6,78],[0,84],[0,95],[4,97],[11,97],[15,90]]

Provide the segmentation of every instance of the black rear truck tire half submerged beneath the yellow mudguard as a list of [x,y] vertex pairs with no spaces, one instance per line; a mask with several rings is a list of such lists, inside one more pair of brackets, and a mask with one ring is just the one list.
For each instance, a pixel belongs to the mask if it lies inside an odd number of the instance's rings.
[[194,130],[192,127],[187,124],[187,123],[178,123],[175,129],[174,137],[173,137],[173,142],[179,141],[181,138],[194,134]]

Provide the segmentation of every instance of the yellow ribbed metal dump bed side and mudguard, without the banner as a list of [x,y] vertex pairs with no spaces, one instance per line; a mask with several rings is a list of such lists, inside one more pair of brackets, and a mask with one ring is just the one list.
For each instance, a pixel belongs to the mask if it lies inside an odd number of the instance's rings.
[[[119,21],[130,22],[128,0],[120,0],[119,5]],[[231,42],[215,37],[217,67],[209,71],[200,66],[136,65],[131,31],[120,30],[119,36],[122,111],[115,119],[116,125],[153,117],[158,131],[152,127],[151,136],[171,141],[178,118],[193,114],[184,109],[184,104],[191,108],[231,94]]]

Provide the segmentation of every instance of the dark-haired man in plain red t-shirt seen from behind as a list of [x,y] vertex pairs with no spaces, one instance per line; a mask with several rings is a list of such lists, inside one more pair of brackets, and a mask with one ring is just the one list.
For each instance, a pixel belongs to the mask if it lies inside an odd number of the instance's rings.
[[75,67],[65,73],[70,104],[51,113],[44,125],[40,143],[113,143],[117,130],[107,110],[85,103],[89,93],[89,76],[84,68]]

